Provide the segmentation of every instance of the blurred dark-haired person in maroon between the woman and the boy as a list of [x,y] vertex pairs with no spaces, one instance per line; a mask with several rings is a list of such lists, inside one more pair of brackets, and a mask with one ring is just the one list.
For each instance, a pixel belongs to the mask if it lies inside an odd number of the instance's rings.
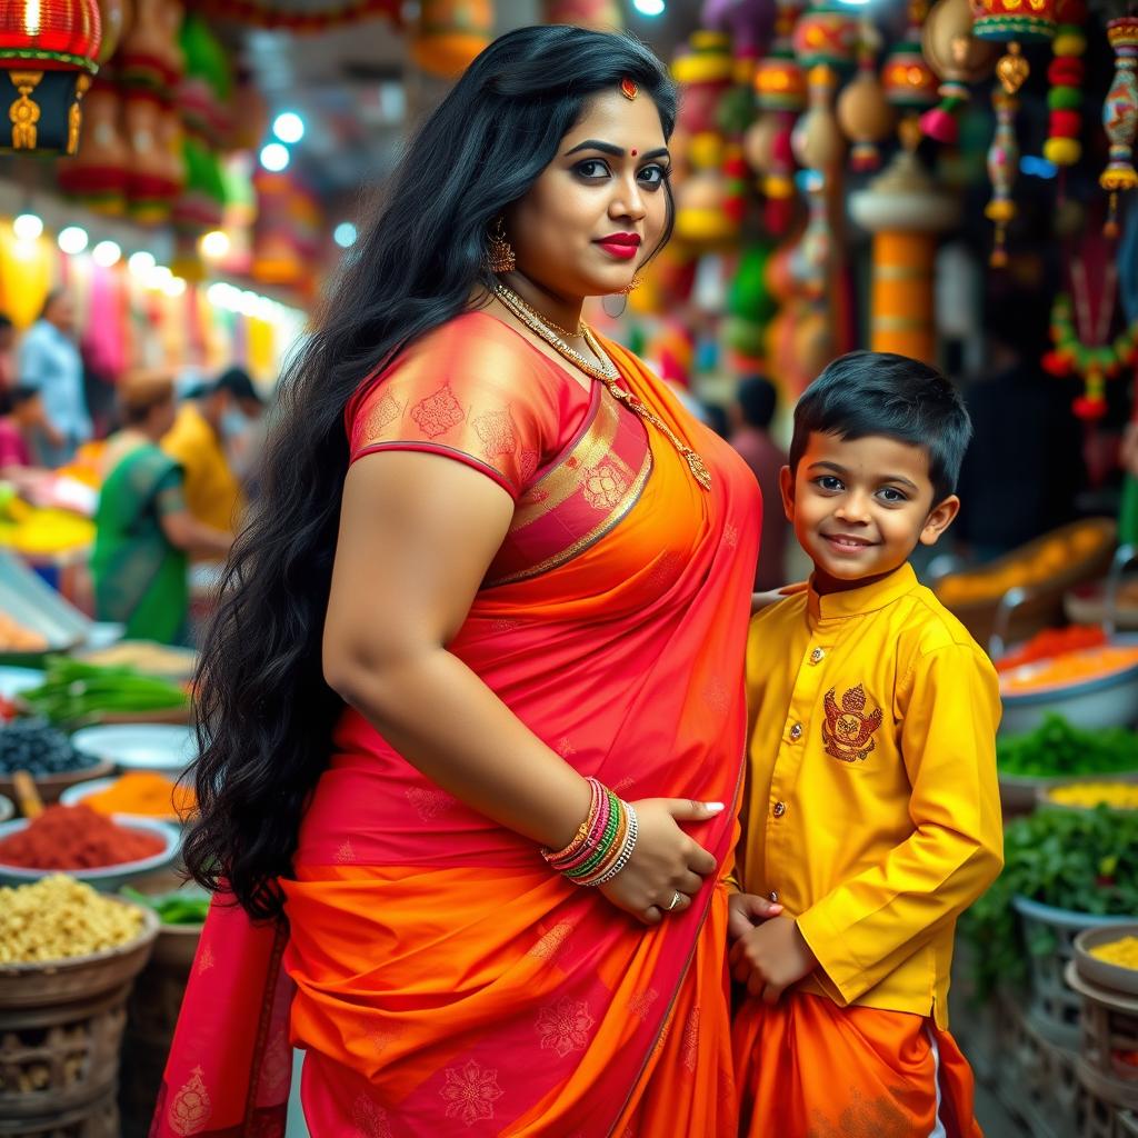
[[762,538],[754,587],[759,592],[786,584],[786,535],[790,523],[783,513],[778,471],[786,465],[786,452],[770,437],[770,423],[778,410],[775,385],[762,376],[750,376],[739,385],[732,406],[734,429],[731,445],[751,468],[762,492]]

